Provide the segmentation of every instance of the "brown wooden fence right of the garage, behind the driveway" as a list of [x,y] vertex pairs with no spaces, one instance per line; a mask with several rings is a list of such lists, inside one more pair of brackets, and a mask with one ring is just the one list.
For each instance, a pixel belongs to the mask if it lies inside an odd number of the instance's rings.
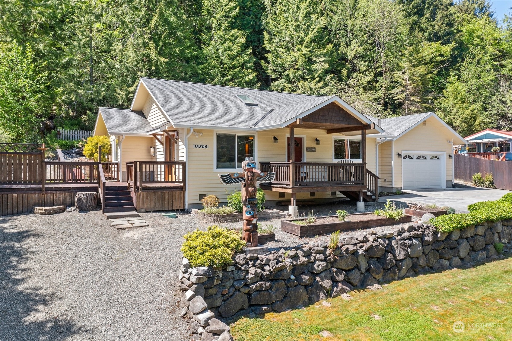
[[496,188],[512,190],[512,161],[485,160],[466,156],[454,155],[454,178],[472,182],[473,174],[493,173]]

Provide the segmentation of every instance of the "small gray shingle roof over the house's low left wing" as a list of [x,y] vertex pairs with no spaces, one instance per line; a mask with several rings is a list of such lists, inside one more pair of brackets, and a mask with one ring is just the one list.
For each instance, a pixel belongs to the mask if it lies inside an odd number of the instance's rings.
[[130,109],[99,108],[109,134],[146,134],[151,124],[141,111]]

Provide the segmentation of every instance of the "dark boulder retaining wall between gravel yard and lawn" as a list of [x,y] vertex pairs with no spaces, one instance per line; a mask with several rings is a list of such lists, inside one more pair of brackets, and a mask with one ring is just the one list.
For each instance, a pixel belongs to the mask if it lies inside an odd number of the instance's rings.
[[[494,243],[512,250],[512,220],[438,232],[430,225],[410,224],[396,232],[344,236],[335,250],[325,243],[264,255],[237,254],[223,268],[190,268],[183,259],[179,275],[181,315],[190,320],[196,339],[214,339],[219,318],[239,311],[262,314],[304,307],[356,288],[395,281],[416,273],[446,270],[492,258]],[[217,328],[217,327],[216,327]],[[222,330],[224,333],[228,329]],[[205,334],[206,333],[206,334]],[[228,340],[227,333],[222,340]],[[220,339],[220,338],[219,338]]]

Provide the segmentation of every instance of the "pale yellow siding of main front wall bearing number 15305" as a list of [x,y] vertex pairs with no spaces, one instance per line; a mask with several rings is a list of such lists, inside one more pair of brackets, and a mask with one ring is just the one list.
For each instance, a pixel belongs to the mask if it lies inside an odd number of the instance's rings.
[[[239,185],[224,185],[220,182],[218,174],[232,172],[229,169],[215,170],[214,169],[214,131],[213,130],[198,130],[203,133],[202,136],[196,138],[191,135],[188,138],[188,204],[199,204],[200,194],[214,194],[218,196],[221,201],[226,201],[226,189],[233,191],[240,189]],[[262,132],[244,132],[243,134],[255,135],[257,144],[256,161],[258,162],[284,162],[286,160],[286,135],[289,134],[289,129],[274,129]],[[326,134],[322,130],[313,129],[295,129],[296,136],[305,136],[305,146],[316,147],[315,153],[305,152],[305,162],[332,162],[333,161],[333,139],[332,135]],[[183,143],[185,141],[186,132],[180,131],[180,144],[179,155],[183,155]],[[279,142],[273,143],[273,137],[277,137]],[[343,137],[341,134],[336,136]],[[319,145],[315,144],[315,138],[321,142]],[[357,137],[350,137],[356,138]],[[207,149],[195,149],[195,144],[207,144]],[[368,168],[375,171],[375,139],[367,139],[367,161]],[[278,192],[266,191],[267,200],[286,200],[290,198],[290,194],[286,194],[285,198],[279,198]],[[337,194],[336,197],[343,197]],[[309,193],[298,193],[297,199],[311,198]],[[314,198],[333,198],[330,192],[316,193]]]

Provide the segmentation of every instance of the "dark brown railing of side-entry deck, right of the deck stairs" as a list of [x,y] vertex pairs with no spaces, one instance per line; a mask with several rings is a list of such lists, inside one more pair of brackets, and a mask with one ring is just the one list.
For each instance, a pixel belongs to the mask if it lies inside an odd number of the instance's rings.
[[126,162],[126,181],[130,188],[142,191],[143,184],[177,183],[185,188],[185,162],[132,161]]

